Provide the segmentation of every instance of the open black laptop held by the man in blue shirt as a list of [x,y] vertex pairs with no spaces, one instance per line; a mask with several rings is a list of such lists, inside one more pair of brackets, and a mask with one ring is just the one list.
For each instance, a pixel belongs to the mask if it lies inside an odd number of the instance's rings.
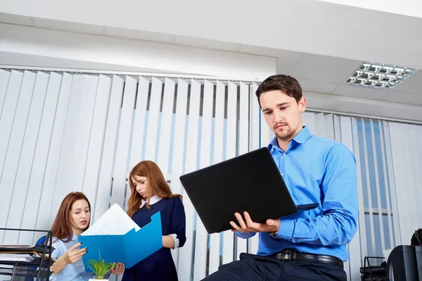
[[185,174],[180,181],[207,233],[231,229],[236,212],[248,211],[252,221],[265,223],[318,206],[295,205],[267,148]]

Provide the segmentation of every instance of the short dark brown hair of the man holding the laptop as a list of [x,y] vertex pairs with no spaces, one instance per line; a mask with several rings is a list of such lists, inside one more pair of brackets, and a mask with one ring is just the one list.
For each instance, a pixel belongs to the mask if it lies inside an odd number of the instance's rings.
[[262,93],[276,90],[283,91],[283,93],[286,93],[287,96],[295,98],[296,103],[299,103],[300,98],[302,98],[302,87],[300,86],[298,80],[289,75],[277,74],[262,81],[258,87],[255,92],[257,94],[258,103],[260,103],[260,96]]

